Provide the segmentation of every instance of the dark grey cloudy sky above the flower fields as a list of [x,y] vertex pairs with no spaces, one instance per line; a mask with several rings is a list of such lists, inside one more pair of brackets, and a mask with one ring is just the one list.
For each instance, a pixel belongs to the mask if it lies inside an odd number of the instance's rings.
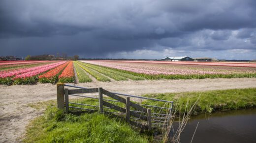
[[256,0],[0,0],[0,55],[256,59]]

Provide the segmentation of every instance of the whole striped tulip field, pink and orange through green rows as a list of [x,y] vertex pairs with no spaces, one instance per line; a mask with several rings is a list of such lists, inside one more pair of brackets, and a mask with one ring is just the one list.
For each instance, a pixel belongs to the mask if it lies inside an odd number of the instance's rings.
[[[76,77],[75,77],[76,76]],[[0,61],[0,84],[256,77],[256,63],[168,61]]]

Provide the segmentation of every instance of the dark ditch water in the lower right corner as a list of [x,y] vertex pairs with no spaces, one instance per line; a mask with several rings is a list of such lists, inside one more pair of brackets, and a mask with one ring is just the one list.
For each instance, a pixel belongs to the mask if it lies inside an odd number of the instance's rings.
[[256,143],[256,108],[216,112],[192,117],[181,134],[181,143]]

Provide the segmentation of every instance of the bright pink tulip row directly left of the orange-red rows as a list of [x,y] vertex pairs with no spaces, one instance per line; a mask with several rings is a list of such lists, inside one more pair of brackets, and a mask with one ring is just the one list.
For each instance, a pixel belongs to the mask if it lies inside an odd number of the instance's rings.
[[62,64],[66,63],[66,61],[64,62],[59,62],[57,64],[51,64],[51,65],[47,65],[46,67],[44,68],[39,68],[37,70],[34,70],[34,71],[29,71],[29,72],[24,72],[22,74],[17,74],[15,77],[13,77],[13,80],[17,79],[17,78],[27,78],[27,77],[32,77],[32,76],[35,76],[37,74],[40,74],[42,72],[45,72],[45,71],[48,71],[50,69],[53,69],[55,67],[58,67]]

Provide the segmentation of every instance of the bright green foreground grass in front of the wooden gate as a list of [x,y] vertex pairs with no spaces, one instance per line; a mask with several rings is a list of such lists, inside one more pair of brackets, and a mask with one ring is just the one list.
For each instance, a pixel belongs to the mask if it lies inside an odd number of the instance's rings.
[[64,114],[49,106],[44,115],[27,127],[25,143],[148,143],[124,120],[92,113],[80,116]]

